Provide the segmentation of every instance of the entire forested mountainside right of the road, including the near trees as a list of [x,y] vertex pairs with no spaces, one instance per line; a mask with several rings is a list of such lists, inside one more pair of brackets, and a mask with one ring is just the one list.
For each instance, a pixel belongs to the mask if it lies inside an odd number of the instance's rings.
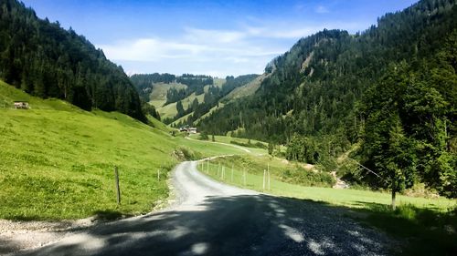
[[359,141],[359,160],[382,177],[366,175],[369,184],[399,191],[421,180],[456,197],[455,20],[454,0],[423,0],[363,33],[305,37],[267,65],[254,96],[200,129],[287,144],[289,159],[329,167]]

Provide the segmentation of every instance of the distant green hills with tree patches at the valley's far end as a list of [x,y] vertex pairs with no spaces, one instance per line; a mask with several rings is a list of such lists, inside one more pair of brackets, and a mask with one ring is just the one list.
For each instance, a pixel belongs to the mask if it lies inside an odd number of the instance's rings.
[[[247,87],[257,77],[244,75],[218,79],[203,75],[154,73],[133,75],[131,80],[144,101],[160,105],[154,107],[166,124],[182,126],[194,125],[198,118],[217,107],[219,101],[227,102],[231,98],[225,98],[228,94],[237,88]],[[222,84],[219,84],[220,81]],[[245,90],[251,90],[250,87]],[[160,97],[165,91],[166,97]],[[243,93],[246,94],[241,91],[237,96],[242,97]]]

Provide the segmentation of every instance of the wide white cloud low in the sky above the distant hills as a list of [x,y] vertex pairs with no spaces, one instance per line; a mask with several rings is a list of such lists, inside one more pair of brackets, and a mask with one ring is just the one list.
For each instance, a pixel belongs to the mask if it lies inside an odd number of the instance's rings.
[[183,28],[175,38],[143,37],[101,45],[106,56],[133,73],[196,73],[218,77],[261,73],[301,37],[324,28],[353,24],[297,25],[288,23],[241,26],[239,30]]

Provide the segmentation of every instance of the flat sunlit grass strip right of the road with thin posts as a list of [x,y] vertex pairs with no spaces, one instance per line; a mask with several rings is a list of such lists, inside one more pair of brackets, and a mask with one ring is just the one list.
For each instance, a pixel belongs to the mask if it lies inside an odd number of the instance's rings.
[[[209,169],[207,169],[208,166]],[[231,178],[232,166],[233,179]],[[222,167],[225,169],[225,179],[222,179],[221,177],[220,169],[222,169]],[[367,208],[368,205],[373,203],[381,205],[390,204],[390,194],[387,192],[358,189],[304,187],[283,182],[282,172],[285,171],[285,169],[291,169],[292,164],[282,161],[281,159],[266,156],[255,158],[228,157],[223,159],[213,159],[209,161],[209,165],[207,161],[204,162],[203,169],[201,163],[198,168],[200,171],[206,173],[213,179],[218,179],[240,188],[254,189],[278,196],[307,200],[320,200],[351,208]],[[263,189],[263,171],[265,169],[270,169],[270,189],[268,189],[268,186],[266,189]],[[244,173],[246,173],[246,183],[244,183]],[[426,199],[402,195],[398,196],[397,201],[400,205],[409,204],[419,208],[432,210],[447,210],[456,205],[455,200],[448,200],[445,198]]]

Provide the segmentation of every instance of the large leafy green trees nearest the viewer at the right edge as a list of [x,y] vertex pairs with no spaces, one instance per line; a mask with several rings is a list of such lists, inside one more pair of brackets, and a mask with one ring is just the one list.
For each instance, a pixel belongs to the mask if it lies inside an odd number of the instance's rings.
[[420,180],[457,198],[456,49],[454,29],[432,58],[392,64],[367,90],[360,154],[384,178],[368,176],[372,185],[396,192]]

